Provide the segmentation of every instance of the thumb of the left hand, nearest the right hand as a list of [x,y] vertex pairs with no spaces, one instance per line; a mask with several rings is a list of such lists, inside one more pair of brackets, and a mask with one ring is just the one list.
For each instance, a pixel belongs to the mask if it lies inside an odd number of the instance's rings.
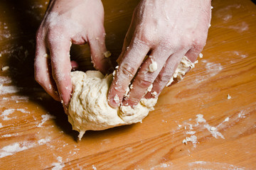
[[92,63],[95,69],[107,74],[108,70],[112,69],[112,64],[110,61],[111,53],[107,51],[105,45],[105,30],[103,26],[96,33],[90,33],[89,35],[88,43],[90,45]]

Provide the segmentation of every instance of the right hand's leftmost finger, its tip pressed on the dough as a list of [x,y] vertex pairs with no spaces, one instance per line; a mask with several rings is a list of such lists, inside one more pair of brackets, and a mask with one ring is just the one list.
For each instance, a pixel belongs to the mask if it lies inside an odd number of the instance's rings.
[[137,41],[132,42],[129,47],[129,50],[124,53],[108,92],[108,103],[112,108],[119,106],[129,83],[137,73],[146,53],[149,52],[149,46]]

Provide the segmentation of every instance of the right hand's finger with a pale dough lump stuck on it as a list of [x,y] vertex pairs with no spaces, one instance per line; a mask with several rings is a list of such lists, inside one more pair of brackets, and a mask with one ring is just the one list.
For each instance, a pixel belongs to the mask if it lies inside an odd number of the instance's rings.
[[136,106],[141,98],[146,94],[147,89],[153,84],[161,69],[164,67],[166,60],[171,55],[171,51],[162,50],[161,48],[152,50],[151,55],[142,64],[134,81],[128,97],[124,98],[124,106]]

